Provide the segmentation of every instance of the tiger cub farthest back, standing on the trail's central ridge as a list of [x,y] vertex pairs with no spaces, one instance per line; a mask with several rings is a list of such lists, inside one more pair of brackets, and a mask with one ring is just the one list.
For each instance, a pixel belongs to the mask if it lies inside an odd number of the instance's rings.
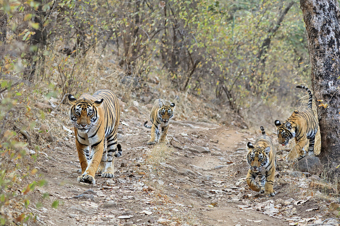
[[[169,140],[167,138],[167,132],[169,128],[169,120],[173,116],[173,110],[175,107],[175,103],[171,103],[170,105],[166,105],[165,100],[156,99],[155,105],[151,109],[151,123],[152,126],[147,126],[148,121],[144,123],[146,128],[151,128],[151,139],[148,141],[148,145],[156,144],[159,142],[165,142],[169,144]],[[162,135],[159,138],[159,126],[162,127]]]

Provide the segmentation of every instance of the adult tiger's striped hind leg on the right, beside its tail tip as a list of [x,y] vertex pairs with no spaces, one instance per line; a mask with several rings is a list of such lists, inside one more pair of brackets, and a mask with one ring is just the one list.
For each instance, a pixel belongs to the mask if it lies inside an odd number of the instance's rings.
[[117,131],[116,134],[109,135],[107,137],[107,159],[106,159],[106,166],[105,170],[102,173],[102,177],[107,177],[111,178],[115,176],[114,173],[114,165],[115,165],[115,160],[114,160],[114,154],[117,149]]

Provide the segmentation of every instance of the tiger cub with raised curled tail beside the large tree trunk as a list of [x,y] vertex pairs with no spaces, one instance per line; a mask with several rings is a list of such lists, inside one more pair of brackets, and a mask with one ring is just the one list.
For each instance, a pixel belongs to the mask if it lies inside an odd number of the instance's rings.
[[314,139],[318,132],[317,119],[312,110],[312,92],[305,86],[296,86],[296,88],[305,89],[309,94],[308,105],[302,111],[295,110],[289,118],[281,123],[275,120],[274,124],[277,129],[278,143],[285,146],[289,139],[295,137],[295,146],[289,151],[286,156],[287,162],[292,162],[296,157],[299,159],[305,157],[305,146],[307,139],[309,140],[308,155],[314,155]]

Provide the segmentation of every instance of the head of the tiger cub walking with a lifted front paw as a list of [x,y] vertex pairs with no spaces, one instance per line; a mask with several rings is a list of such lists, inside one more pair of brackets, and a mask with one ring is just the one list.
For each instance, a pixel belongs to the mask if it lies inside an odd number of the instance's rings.
[[259,146],[254,147],[252,143],[248,142],[248,155],[247,161],[250,169],[254,172],[265,172],[265,168],[269,163],[270,147],[262,148]]

